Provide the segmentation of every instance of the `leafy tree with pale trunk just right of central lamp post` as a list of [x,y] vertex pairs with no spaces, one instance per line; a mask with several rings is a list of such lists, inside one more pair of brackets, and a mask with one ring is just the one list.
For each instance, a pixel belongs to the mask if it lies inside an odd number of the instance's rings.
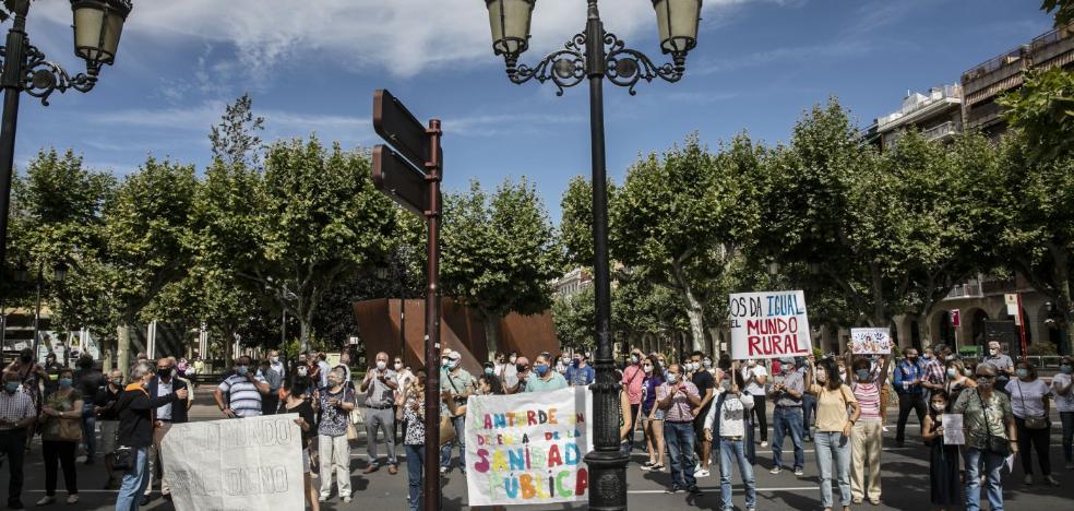
[[723,277],[760,225],[755,182],[764,154],[745,135],[718,154],[691,135],[663,158],[634,164],[612,202],[613,258],[644,266],[679,295],[694,349],[704,348],[707,304],[726,299]]

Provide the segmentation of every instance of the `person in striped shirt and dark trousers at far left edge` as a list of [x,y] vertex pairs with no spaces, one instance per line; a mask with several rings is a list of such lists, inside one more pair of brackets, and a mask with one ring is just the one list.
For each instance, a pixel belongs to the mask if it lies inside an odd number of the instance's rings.
[[8,508],[22,509],[23,460],[26,455],[26,428],[37,418],[29,394],[22,391],[15,372],[3,373],[0,392],[0,454],[8,456]]

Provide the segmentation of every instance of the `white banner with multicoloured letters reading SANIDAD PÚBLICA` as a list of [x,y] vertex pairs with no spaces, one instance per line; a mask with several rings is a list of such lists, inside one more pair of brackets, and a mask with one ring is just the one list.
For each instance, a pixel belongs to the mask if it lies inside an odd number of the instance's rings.
[[589,450],[584,387],[472,396],[466,407],[469,506],[586,500]]

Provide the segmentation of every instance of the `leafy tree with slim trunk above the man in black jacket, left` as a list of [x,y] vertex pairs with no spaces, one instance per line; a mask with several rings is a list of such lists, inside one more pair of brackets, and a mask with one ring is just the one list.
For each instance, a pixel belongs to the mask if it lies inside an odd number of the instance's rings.
[[110,299],[119,305],[120,369],[128,370],[130,328],[166,286],[186,277],[194,167],[150,157],[105,205],[105,260]]

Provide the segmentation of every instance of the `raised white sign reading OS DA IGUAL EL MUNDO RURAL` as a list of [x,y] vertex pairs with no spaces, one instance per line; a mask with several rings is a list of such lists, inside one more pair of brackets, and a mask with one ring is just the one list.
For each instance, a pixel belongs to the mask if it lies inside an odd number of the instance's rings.
[[800,290],[733,294],[729,322],[736,360],[807,356],[812,349]]

